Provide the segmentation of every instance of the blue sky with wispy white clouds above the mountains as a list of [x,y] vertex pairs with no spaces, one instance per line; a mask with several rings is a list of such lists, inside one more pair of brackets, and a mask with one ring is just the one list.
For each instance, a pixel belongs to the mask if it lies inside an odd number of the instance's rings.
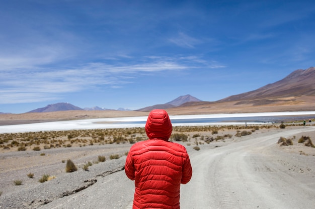
[[139,109],[314,66],[313,1],[0,2],[0,112]]

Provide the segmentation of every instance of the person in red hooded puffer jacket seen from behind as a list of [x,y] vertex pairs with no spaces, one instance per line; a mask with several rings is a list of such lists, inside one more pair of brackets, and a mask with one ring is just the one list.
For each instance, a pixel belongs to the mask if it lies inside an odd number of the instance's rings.
[[134,180],[133,209],[180,208],[180,184],[192,177],[186,148],[169,141],[172,123],[165,110],[152,110],[145,124],[148,140],[130,148],[125,173]]

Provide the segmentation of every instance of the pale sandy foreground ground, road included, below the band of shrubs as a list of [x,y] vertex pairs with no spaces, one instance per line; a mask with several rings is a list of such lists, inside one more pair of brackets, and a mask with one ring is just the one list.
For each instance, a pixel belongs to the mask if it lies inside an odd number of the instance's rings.
[[[242,131],[242,130],[240,130]],[[315,148],[297,140],[315,139],[315,126],[263,128],[236,137],[235,129],[189,132],[186,146],[193,178],[181,188],[181,208],[313,208],[315,200]],[[199,137],[192,138],[194,134]],[[231,138],[205,143],[203,135]],[[280,146],[280,137],[292,138],[292,146]],[[199,141],[197,151],[195,140]],[[132,144],[73,146],[41,151],[0,150],[0,208],[131,208],[134,184],[123,166]],[[41,155],[45,153],[45,155]],[[119,159],[110,160],[111,154]],[[105,162],[95,163],[99,155]],[[63,160],[78,170],[65,172]],[[93,162],[89,171],[82,167]],[[28,173],[34,173],[29,178]],[[39,178],[49,174],[44,183]],[[14,180],[22,180],[15,185]]]

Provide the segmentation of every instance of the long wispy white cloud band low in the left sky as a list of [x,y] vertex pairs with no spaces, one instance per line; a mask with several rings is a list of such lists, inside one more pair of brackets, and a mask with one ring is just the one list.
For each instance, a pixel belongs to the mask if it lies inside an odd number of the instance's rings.
[[[139,59],[141,60],[141,59]],[[31,66],[29,66],[31,67]],[[196,68],[220,68],[196,56],[146,57],[137,64],[88,63],[71,69],[55,68],[13,69],[0,71],[0,104],[46,101],[63,93],[78,92],[106,85],[123,88],[136,77],[155,72],[182,71]]]

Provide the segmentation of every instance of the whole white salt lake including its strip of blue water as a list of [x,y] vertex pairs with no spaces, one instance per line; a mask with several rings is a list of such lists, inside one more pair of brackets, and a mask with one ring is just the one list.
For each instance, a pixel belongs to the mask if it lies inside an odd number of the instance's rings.
[[[308,120],[314,117],[315,111],[170,115],[173,126],[270,124],[282,120]],[[116,117],[3,125],[0,126],[0,133],[144,127],[146,119],[147,116]]]

